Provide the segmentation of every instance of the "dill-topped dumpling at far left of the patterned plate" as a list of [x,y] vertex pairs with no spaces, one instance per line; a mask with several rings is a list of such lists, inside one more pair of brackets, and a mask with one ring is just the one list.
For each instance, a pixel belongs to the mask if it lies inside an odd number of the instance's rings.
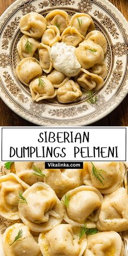
[[17,43],[18,55],[21,60],[26,57],[33,57],[35,51],[39,47],[40,42],[27,35],[23,35]]

